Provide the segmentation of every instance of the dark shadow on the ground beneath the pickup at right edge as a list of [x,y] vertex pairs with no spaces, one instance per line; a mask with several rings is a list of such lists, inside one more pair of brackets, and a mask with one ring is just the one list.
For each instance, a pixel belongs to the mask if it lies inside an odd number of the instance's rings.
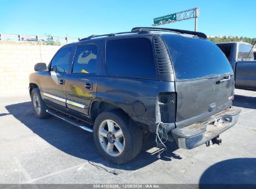
[[256,109],[256,97],[235,94],[233,106],[237,106],[240,108]]

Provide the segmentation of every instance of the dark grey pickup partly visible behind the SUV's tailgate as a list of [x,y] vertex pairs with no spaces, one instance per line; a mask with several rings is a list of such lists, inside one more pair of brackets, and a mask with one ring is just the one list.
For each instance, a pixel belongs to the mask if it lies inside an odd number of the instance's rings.
[[252,45],[245,42],[217,43],[235,73],[235,87],[256,90],[256,61]]

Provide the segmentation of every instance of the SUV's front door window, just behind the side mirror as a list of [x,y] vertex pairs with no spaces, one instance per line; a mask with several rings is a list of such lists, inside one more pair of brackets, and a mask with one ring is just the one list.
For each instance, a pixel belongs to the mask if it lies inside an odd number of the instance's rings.
[[72,54],[72,47],[62,47],[56,53],[50,64],[50,71],[67,73],[69,69],[70,57]]

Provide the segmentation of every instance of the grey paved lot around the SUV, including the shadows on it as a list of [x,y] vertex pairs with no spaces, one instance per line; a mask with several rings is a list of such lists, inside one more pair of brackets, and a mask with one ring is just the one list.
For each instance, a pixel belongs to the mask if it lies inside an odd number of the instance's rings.
[[0,183],[254,183],[256,91],[235,90],[242,109],[222,145],[178,149],[161,159],[154,135],[136,159],[113,165],[100,157],[92,134],[57,118],[37,119],[29,96],[0,99]]

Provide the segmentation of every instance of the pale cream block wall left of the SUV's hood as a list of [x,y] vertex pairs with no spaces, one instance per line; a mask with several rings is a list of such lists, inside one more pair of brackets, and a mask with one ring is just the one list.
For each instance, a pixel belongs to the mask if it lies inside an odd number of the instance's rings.
[[59,45],[0,43],[0,96],[28,94],[29,74],[37,62],[49,63]]

